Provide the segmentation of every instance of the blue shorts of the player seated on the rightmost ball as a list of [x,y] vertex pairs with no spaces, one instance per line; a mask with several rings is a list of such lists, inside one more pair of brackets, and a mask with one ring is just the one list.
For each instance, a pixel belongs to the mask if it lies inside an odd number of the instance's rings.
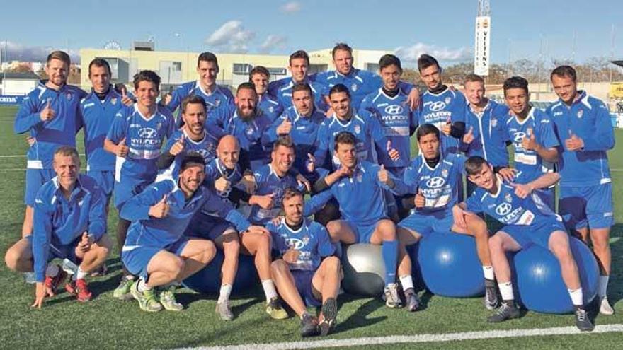
[[508,233],[522,248],[535,244],[549,250],[549,236],[554,231],[566,232],[564,224],[556,216],[542,218],[532,225],[506,225],[498,232]]

